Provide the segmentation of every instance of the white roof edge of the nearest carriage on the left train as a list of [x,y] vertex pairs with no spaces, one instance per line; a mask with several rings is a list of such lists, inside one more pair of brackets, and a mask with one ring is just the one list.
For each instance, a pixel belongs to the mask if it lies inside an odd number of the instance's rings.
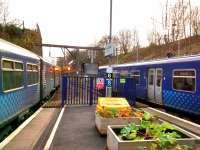
[[39,57],[35,53],[33,53],[25,48],[22,48],[18,45],[15,45],[8,41],[5,41],[1,38],[0,38],[0,51],[5,51],[5,52],[9,52],[9,53],[13,53],[13,54],[17,54],[17,55],[21,55],[21,56],[39,60]]

